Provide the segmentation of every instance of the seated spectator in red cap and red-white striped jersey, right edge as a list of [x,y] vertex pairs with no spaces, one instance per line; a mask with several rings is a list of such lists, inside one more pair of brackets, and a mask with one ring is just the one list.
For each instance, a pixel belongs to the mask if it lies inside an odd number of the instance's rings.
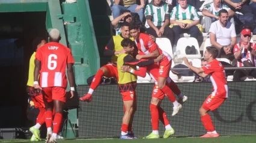
[[[256,62],[256,44],[250,43],[251,30],[245,28],[241,32],[241,39],[234,46],[234,56],[237,59],[237,67],[255,67]],[[236,70],[233,75],[233,81],[241,81],[243,76],[252,76],[256,78],[256,70]]]

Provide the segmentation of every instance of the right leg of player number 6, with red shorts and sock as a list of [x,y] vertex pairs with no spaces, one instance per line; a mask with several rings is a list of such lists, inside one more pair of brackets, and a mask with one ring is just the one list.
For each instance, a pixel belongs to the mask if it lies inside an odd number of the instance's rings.
[[62,123],[63,105],[66,102],[66,89],[63,87],[52,88],[52,100],[54,103],[55,115],[53,120],[53,131],[50,142],[57,142],[58,131]]

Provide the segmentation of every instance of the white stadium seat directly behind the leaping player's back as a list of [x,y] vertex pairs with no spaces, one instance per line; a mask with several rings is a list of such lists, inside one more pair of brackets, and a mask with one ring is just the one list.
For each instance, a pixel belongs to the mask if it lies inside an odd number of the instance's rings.
[[161,50],[168,53],[172,57],[172,59],[174,58],[172,52],[172,44],[170,43],[170,40],[168,38],[156,38],[155,43],[158,44]]

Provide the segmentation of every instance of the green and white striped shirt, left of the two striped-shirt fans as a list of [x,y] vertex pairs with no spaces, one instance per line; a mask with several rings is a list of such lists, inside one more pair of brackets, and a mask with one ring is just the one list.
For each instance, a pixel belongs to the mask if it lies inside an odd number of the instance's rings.
[[151,2],[146,5],[145,17],[152,16],[152,23],[154,23],[155,26],[163,26],[165,20],[164,17],[166,14],[170,14],[168,11],[169,7],[165,2],[163,2],[163,5],[160,7],[154,6]]

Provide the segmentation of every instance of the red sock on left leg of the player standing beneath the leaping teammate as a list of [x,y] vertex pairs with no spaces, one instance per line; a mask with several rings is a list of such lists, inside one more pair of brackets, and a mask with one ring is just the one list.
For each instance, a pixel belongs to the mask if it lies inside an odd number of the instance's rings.
[[159,114],[157,105],[150,105],[149,106],[150,112],[151,112],[151,124],[152,124],[152,130],[158,130],[159,126]]

